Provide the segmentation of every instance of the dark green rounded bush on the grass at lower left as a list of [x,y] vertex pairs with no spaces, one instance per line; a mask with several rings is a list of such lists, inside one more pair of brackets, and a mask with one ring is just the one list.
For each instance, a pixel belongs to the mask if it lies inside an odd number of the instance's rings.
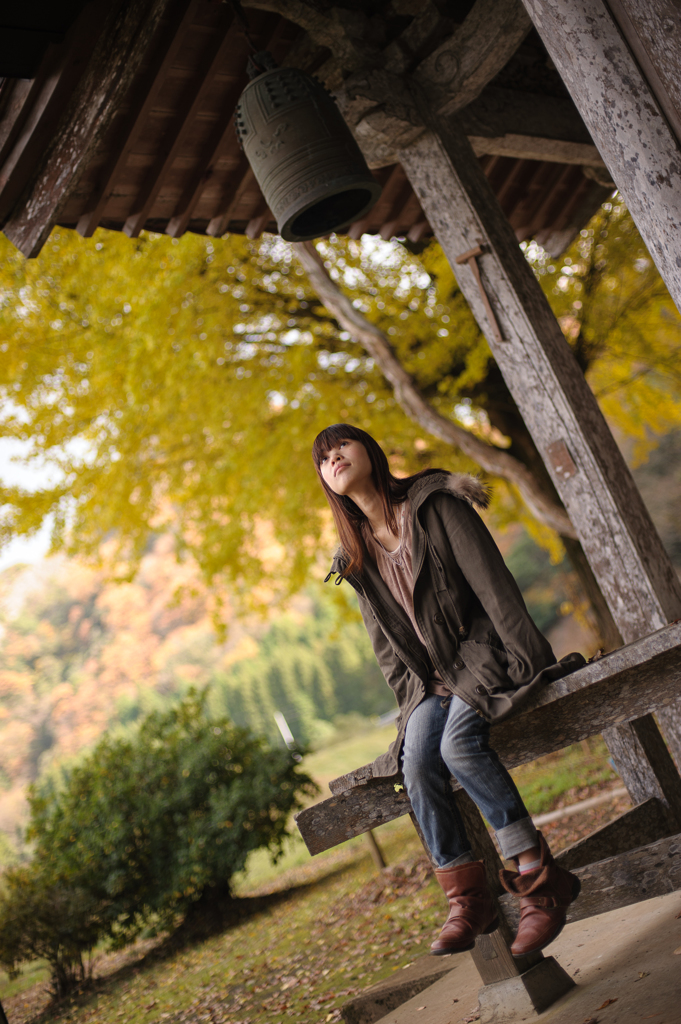
[[[62,991],[96,941],[123,945],[150,924],[172,931],[214,913],[249,853],[281,853],[315,783],[289,751],[210,719],[204,705],[189,693],[132,738],[104,736],[62,787],[33,791],[34,857],[6,872],[0,894],[3,922],[15,923],[0,935],[10,969],[46,956]],[[52,896],[71,907],[68,924]]]

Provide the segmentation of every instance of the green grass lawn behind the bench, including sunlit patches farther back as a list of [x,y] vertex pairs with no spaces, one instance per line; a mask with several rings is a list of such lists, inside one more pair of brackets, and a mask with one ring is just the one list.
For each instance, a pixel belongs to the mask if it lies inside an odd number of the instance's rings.
[[[393,728],[368,730],[309,755],[305,767],[325,790],[320,799],[328,795],[330,778],[386,750]],[[514,775],[535,814],[616,778],[600,740],[543,758]],[[587,830],[603,823],[586,817]],[[560,845],[572,835],[563,827]],[[45,1009],[43,1019],[60,1024],[340,1020],[346,998],[427,952],[444,910],[409,819],[382,825],[376,837],[392,865],[381,873],[363,837],[310,858],[294,836],[278,865],[254,854],[235,889],[247,906],[259,900],[257,912],[181,951],[161,955],[147,942],[124,957],[104,954],[97,989]],[[33,1020],[43,1010],[44,986],[36,983],[45,977],[42,965],[27,966],[12,982],[0,974],[9,1024]]]

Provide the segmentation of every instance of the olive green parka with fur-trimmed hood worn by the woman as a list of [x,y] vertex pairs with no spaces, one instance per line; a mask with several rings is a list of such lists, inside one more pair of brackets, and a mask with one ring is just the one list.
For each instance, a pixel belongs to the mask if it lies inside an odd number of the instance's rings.
[[[372,558],[365,558],[359,575],[345,577],[356,591],[376,657],[399,709],[397,736],[374,762],[375,776],[397,772],[407,722],[426,695],[431,665],[453,693],[491,723],[514,714],[539,687],[585,665],[582,654],[556,662],[533,622],[473,508],[484,508],[488,501],[479,480],[432,473],[416,480],[409,498],[414,613],[425,647]],[[327,580],[346,565],[339,549]]]

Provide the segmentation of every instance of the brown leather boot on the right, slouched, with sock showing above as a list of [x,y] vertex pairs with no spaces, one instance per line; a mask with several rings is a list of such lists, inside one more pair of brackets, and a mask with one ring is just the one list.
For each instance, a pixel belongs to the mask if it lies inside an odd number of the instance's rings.
[[567,907],[582,888],[576,874],[556,864],[540,831],[537,837],[541,850],[539,867],[524,874],[506,869],[499,872],[504,889],[520,897],[520,924],[511,946],[514,956],[535,953],[553,942],[565,924]]

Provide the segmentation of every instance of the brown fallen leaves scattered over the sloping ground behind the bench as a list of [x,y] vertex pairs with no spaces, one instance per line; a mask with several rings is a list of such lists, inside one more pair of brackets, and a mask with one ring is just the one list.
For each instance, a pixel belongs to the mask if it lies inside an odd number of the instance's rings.
[[[558,852],[626,806],[620,799],[543,830]],[[261,909],[222,935],[165,958],[154,958],[148,940],[136,950],[108,954],[98,964],[95,994],[49,1008],[45,986],[37,985],[7,1000],[9,1019],[12,1024],[28,1024],[38,1015],[41,1024],[67,1024],[67,1019],[68,1024],[281,1024],[286,1016],[294,1024],[336,1024],[347,999],[427,953],[444,913],[442,894],[409,822],[384,842],[388,859],[405,857],[400,863],[376,873],[368,858],[341,862],[339,853],[326,877],[314,862],[314,876],[307,866],[295,869],[295,881],[283,873],[270,883],[269,902],[261,887]],[[255,902],[254,893],[247,896]],[[460,1018],[462,1024],[477,1020],[477,1010]],[[598,1018],[584,1024],[598,1024]]]

